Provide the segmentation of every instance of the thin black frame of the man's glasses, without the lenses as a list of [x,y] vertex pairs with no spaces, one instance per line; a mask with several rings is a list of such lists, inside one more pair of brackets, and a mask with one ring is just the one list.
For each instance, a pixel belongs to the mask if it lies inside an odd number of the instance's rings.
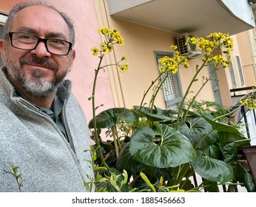
[[[7,37],[10,37],[10,44],[13,46],[13,34],[17,34],[18,32],[10,32],[8,33],[8,36]],[[21,33],[21,34],[26,34],[26,35],[31,35],[30,33]],[[70,50],[72,50],[72,47],[73,47],[73,44],[69,41],[65,41],[63,39],[58,39],[58,38],[38,38],[38,36],[36,35],[31,35],[35,38],[37,38],[37,43],[36,43],[36,46],[33,47],[32,49],[23,49],[23,48],[20,48],[20,47],[15,47],[13,46],[14,48],[17,48],[17,49],[20,49],[20,50],[35,50],[36,47],[38,46],[38,44],[42,41],[44,42],[44,45],[45,45],[45,48],[47,49],[47,52],[50,52],[48,47],[47,47],[47,41],[48,40],[61,40],[61,41],[64,41],[64,42],[67,42],[67,44],[69,44],[69,47],[68,47],[68,50],[67,50],[67,53],[65,54],[61,54],[61,55],[68,55],[70,53]],[[60,54],[56,54],[54,52],[50,52],[51,54],[53,55],[60,55]]]

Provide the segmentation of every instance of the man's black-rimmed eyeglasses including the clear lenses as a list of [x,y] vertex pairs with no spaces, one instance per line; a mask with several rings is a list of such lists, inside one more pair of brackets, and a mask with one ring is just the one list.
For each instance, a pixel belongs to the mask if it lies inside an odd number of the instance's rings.
[[12,46],[21,50],[35,50],[41,41],[54,55],[67,55],[72,49],[72,43],[58,38],[38,38],[28,33],[9,33],[9,37]]

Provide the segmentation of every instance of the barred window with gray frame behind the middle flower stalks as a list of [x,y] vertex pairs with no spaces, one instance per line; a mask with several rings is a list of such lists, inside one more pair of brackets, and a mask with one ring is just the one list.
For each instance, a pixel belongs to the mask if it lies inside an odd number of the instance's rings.
[[[165,55],[173,56],[172,52],[155,52],[156,62],[158,64],[158,68],[160,64],[158,60],[163,58]],[[159,71],[159,70],[158,70]],[[178,103],[181,102],[182,94],[181,94],[181,86],[180,86],[180,78],[178,72],[176,74],[169,75],[166,78],[162,86],[162,92],[164,96],[164,103],[166,109],[178,109]]]

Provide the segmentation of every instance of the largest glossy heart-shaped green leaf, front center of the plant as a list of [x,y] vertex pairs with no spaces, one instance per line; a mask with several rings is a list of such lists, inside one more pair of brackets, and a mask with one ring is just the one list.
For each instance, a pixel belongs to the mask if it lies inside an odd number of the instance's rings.
[[147,166],[167,168],[190,162],[195,150],[190,141],[170,126],[159,124],[155,132],[147,127],[133,135],[129,151],[132,157]]

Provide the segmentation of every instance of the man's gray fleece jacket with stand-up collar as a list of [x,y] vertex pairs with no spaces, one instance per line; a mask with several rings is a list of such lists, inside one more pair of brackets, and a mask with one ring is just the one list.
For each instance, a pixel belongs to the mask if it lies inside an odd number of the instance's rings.
[[19,167],[21,191],[87,191],[84,182],[93,177],[90,151],[84,152],[90,150],[90,134],[70,88],[70,81],[64,81],[58,89],[67,98],[61,115],[68,143],[50,117],[16,95],[0,69],[1,192],[18,191],[16,179],[7,173],[10,164]]

